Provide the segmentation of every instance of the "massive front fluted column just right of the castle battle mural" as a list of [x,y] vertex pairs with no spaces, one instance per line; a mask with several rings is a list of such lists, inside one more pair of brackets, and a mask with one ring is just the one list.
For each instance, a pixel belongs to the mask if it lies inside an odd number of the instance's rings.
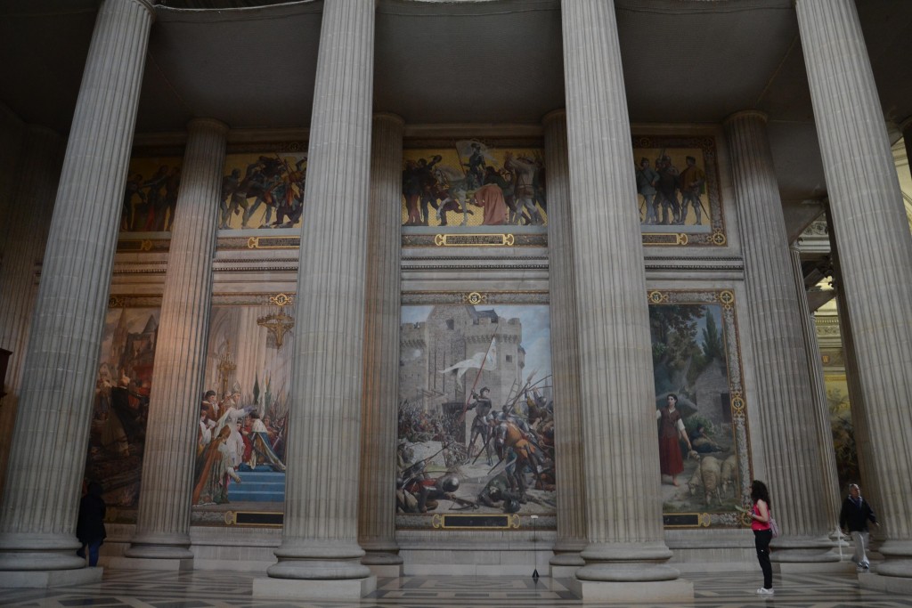
[[586,485],[584,599],[687,600],[663,564],[646,273],[614,2],[564,0]]

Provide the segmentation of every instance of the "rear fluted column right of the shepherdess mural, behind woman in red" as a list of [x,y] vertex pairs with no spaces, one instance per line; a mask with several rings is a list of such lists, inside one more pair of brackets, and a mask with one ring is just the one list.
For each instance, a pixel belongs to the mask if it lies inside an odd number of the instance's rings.
[[[772,560],[827,562],[826,510],[820,478],[819,427],[802,337],[801,304],[772,166],[766,115],[745,111],[725,120],[735,204],[746,266],[745,286],[757,377],[751,434],[762,444],[761,470],[782,527]],[[808,440],[814,438],[814,440]]]

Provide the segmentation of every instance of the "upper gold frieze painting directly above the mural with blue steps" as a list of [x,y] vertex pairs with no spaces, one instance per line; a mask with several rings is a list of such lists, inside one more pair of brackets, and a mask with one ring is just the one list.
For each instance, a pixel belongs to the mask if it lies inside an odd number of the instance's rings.
[[306,175],[304,152],[228,154],[219,201],[219,229],[299,227]]

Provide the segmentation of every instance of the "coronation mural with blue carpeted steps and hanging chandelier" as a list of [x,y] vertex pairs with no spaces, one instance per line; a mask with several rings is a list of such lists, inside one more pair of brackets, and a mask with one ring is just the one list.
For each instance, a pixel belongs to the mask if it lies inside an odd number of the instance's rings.
[[[254,297],[255,299],[255,297]],[[193,473],[194,521],[276,523],[285,502],[295,306],[213,305]]]

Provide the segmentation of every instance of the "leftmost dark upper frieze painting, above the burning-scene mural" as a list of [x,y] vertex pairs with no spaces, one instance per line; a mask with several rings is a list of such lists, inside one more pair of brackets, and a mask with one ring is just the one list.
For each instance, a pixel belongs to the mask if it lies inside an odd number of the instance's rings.
[[133,157],[123,192],[121,232],[171,232],[181,158]]

